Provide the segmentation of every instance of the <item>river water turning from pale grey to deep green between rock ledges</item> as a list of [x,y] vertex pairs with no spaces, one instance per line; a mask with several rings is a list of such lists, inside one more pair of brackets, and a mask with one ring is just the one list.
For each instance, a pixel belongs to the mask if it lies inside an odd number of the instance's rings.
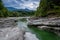
[[[24,19],[25,20],[25,19]],[[29,32],[31,35],[36,35],[39,40],[60,40],[60,37],[52,32],[40,30],[34,26],[27,26],[28,22],[25,20],[18,21],[20,29]],[[27,35],[29,36],[29,35]],[[31,36],[30,36],[31,37]]]

